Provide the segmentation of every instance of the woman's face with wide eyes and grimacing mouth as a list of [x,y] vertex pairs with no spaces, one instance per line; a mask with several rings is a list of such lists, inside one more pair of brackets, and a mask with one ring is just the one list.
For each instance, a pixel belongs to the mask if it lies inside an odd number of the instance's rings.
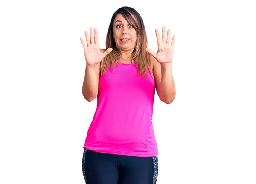
[[133,50],[135,48],[137,38],[135,28],[125,20],[122,14],[116,15],[113,36],[116,46],[120,50]]

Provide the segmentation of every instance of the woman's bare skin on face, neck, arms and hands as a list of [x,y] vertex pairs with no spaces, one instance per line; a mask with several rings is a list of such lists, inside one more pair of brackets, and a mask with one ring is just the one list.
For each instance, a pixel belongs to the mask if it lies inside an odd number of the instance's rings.
[[[108,48],[106,51],[99,48],[98,31],[95,29],[95,37],[93,35],[93,29],[90,28],[90,38],[85,31],[85,37],[87,46],[84,43],[83,38],[80,38],[84,47],[84,56],[86,60],[86,69],[84,76],[84,83],[82,93],[87,101],[92,101],[97,97],[99,88],[100,77],[100,61],[112,51],[112,48]],[[122,54],[122,58],[119,62],[131,63],[132,51],[136,45],[136,31],[131,24],[124,19],[121,14],[118,14],[114,20],[113,37],[116,41],[116,46],[119,48]],[[171,30],[168,29],[166,38],[166,28],[162,29],[162,40],[158,29],[156,29],[156,37],[158,49],[157,53],[149,48],[146,51],[150,53],[151,68],[153,68],[153,75],[155,81],[155,87],[157,94],[161,101],[166,104],[170,104],[175,99],[175,84],[172,76],[172,58],[173,48],[175,43],[175,35],[172,37],[171,42]],[[122,38],[129,38],[128,42],[122,42]]]

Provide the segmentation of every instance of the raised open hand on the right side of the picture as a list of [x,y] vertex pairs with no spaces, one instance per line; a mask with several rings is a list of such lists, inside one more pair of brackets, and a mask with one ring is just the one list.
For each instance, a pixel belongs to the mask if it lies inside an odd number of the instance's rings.
[[161,64],[163,63],[167,64],[172,62],[175,35],[173,35],[172,42],[171,42],[171,29],[168,29],[167,39],[166,39],[165,26],[163,26],[163,34],[162,34],[163,42],[161,40],[158,29],[156,29],[156,35],[157,35],[157,43],[158,43],[157,53],[152,51],[150,48],[146,48],[146,51],[149,52]]

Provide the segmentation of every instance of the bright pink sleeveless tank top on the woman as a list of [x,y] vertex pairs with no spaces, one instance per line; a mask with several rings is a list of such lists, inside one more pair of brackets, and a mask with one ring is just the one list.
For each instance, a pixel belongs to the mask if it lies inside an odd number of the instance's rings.
[[118,62],[99,78],[97,108],[84,148],[101,153],[150,157],[158,154],[152,125],[155,83],[137,75],[135,63]]

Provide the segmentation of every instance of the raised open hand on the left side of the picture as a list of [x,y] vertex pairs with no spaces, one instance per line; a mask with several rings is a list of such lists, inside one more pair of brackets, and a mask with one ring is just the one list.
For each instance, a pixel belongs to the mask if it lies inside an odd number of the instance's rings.
[[96,66],[113,49],[108,48],[105,52],[101,53],[99,49],[98,30],[96,28],[94,29],[95,37],[93,35],[93,28],[90,28],[90,38],[87,31],[85,31],[84,33],[85,33],[87,46],[85,45],[82,37],[80,38],[80,40],[84,47],[84,57],[85,57],[86,65]]

